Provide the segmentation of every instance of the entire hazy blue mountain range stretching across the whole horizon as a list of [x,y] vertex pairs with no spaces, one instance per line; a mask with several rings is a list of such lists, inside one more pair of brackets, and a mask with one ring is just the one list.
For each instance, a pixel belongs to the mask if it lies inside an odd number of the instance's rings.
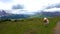
[[36,12],[35,15],[28,15],[28,14],[11,14],[7,13],[5,10],[0,10],[0,19],[20,19],[20,18],[34,18],[34,17],[55,17],[60,16],[59,11],[55,12]]

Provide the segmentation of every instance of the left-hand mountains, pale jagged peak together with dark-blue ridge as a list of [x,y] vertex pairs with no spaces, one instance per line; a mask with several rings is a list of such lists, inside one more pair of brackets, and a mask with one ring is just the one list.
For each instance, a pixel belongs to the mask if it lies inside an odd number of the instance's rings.
[[5,10],[0,11],[0,19],[19,19],[19,18],[28,18],[29,15],[25,14],[11,14],[7,13]]

